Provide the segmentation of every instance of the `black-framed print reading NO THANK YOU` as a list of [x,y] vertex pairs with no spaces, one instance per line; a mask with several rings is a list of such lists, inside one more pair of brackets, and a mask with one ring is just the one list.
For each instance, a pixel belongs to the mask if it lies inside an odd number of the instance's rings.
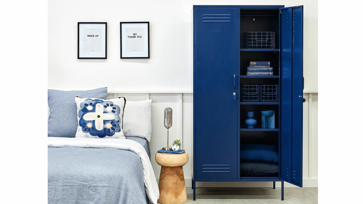
[[150,58],[149,22],[120,22],[121,59]]

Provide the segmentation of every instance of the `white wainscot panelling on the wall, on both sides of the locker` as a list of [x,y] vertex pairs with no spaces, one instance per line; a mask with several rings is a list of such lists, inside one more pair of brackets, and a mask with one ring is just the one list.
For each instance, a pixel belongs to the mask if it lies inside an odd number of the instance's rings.
[[[182,148],[189,153],[189,161],[183,166],[185,185],[192,183],[193,140],[193,94],[178,91],[173,93],[121,93],[111,92],[107,99],[125,97],[127,101],[152,99],[152,135],[150,142],[151,164],[159,180],[160,166],[155,162],[155,153],[166,146],[167,130],[164,127],[164,109],[173,109],[173,125],[169,129],[169,144],[180,139]],[[303,104],[303,187],[318,187],[318,93],[304,93]],[[285,182],[286,183],[286,182]],[[272,182],[197,182],[197,187],[272,187]],[[276,182],[276,187],[281,187]],[[286,183],[285,187],[296,187]]]

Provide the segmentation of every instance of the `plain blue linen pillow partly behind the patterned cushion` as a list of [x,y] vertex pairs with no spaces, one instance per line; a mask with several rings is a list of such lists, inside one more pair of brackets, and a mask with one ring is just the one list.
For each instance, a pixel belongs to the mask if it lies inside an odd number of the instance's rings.
[[48,89],[48,137],[74,138],[78,127],[74,97],[106,99],[107,87],[87,91]]

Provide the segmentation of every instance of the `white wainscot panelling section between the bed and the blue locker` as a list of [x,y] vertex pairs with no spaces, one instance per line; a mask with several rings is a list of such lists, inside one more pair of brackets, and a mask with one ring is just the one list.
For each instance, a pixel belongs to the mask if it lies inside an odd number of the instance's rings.
[[[185,93],[186,92],[186,93]],[[164,127],[164,109],[173,109],[173,124],[169,128],[169,145],[175,139],[180,139],[181,147],[189,154],[189,161],[184,165],[184,176],[187,185],[191,186],[192,179],[192,94],[190,91],[175,91],[173,93],[122,93],[109,92],[107,99],[125,97],[127,101],[142,101],[151,99],[152,132],[150,141],[151,164],[155,177],[159,180],[160,166],[155,161],[155,153],[167,144],[167,129]]]

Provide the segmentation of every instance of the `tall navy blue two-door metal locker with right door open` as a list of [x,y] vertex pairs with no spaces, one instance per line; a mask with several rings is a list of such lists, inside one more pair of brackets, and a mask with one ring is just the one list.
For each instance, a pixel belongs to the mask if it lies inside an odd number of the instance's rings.
[[[284,181],[302,187],[303,6],[195,5],[193,18],[193,199],[197,181],[281,181],[284,200]],[[243,33],[264,28],[276,47],[243,49]],[[249,59],[271,60],[274,76],[245,76]],[[242,102],[247,82],[278,83],[280,100]],[[276,128],[242,127],[263,109],[276,109]],[[240,144],[255,135],[276,136],[278,175],[240,175]]]

